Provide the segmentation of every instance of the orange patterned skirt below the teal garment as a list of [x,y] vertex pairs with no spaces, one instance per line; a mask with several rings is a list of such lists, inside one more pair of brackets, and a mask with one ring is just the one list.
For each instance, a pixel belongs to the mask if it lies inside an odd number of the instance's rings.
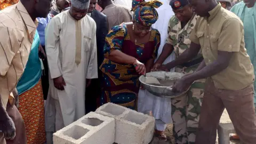
[[44,96],[41,79],[32,89],[19,95],[19,111],[26,127],[27,144],[45,143]]

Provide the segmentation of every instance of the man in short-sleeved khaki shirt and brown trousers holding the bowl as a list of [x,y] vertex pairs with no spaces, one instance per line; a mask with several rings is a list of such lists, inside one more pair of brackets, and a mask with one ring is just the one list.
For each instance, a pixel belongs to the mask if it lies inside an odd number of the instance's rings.
[[244,44],[242,21],[215,0],[189,0],[200,18],[190,34],[190,49],[164,67],[188,61],[202,50],[204,61],[196,72],[179,79],[173,91],[184,91],[197,79],[207,78],[197,144],[215,143],[216,130],[226,108],[241,141],[256,141],[253,105],[253,66]]

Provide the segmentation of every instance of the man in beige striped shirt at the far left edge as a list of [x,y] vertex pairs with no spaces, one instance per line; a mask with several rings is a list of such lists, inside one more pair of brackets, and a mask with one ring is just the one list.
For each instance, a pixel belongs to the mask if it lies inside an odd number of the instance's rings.
[[[25,125],[17,107],[14,106],[13,95],[18,96],[15,87],[28,60],[36,31],[36,17],[46,17],[50,5],[49,0],[39,2],[21,0],[0,11],[1,144],[26,143]],[[29,15],[28,11],[34,15]]]

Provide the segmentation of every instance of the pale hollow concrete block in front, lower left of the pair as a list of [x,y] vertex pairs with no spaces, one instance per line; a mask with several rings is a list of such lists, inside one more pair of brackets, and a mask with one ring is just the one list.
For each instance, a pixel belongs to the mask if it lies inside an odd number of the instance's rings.
[[91,112],[53,134],[53,143],[112,144],[115,119]]

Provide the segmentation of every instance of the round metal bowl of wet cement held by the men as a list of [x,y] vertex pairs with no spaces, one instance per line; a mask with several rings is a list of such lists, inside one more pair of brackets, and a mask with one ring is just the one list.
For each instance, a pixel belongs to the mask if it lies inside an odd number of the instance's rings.
[[[174,79],[179,79],[182,76],[184,76],[185,74],[182,73],[176,73],[176,72],[165,72],[165,71],[154,71],[154,72],[150,72],[147,73],[146,76],[147,77],[155,77],[158,80],[174,80]],[[172,88],[170,86],[156,86],[156,85],[151,85],[151,84],[147,84],[146,82],[146,77],[145,76],[140,76],[139,77],[139,81],[141,82],[142,86],[149,91],[150,93],[156,95],[157,97],[165,97],[165,98],[176,98],[179,97],[185,93],[188,92],[188,90],[190,89],[190,87],[183,92],[173,92]]]

